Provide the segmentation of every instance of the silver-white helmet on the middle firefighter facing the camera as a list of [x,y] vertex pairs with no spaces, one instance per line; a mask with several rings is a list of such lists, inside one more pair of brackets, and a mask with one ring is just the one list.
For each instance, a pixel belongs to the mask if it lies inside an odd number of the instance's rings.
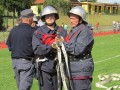
[[55,14],[56,20],[59,19],[59,15],[57,13],[57,10],[52,6],[46,6],[41,13],[41,20],[44,21],[45,16],[49,15],[49,14]]

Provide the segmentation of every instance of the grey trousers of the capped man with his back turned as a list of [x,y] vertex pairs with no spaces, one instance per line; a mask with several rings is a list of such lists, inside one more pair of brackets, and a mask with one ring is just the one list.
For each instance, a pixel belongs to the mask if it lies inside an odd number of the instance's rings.
[[34,64],[26,59],[12,59],[15,79],[19,90],[30,90],[33,82]]

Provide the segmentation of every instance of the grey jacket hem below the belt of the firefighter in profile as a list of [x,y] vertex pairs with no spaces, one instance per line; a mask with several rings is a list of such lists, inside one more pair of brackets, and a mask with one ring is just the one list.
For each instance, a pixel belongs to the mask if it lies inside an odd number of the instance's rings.
[[94,70],[92,58],[70,62],[72,76],[91,76]]

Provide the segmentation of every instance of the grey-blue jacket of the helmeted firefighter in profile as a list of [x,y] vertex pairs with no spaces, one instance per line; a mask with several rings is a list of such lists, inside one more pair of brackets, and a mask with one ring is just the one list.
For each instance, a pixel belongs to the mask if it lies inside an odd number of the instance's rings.
[[[74,36],[75,33],[80,30],[77,36]],[[68,56],[82,56],[84,54],[91,54],[91,50],[94,43],[94,38],[91,33],[91,30],[80,24],[77,27],[72,28],[69,34],[69,42],[64,42]],[[91,76],[94,64],[92,57],[87,58],[87,60],[81,60],[81,57],[78,61],[70,62],[72,76]]]

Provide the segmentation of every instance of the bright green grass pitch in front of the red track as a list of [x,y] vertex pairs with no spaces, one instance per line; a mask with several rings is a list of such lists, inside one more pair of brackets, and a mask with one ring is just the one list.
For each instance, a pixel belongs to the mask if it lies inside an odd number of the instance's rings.
[[[120,73],[120,56],[115,57],[120,55],[120,34],[96,37],[92,54],[95,62],[92,90],[105,90],[97,88],[95,83],[99,81],[99,74]],[[107,84],[108,87],[112,85],[120,85],[120,82]],[[7,49],[0,50],[0,90],[17,90]],[[38,90],[37,80],[34,80],[32,90]]]

